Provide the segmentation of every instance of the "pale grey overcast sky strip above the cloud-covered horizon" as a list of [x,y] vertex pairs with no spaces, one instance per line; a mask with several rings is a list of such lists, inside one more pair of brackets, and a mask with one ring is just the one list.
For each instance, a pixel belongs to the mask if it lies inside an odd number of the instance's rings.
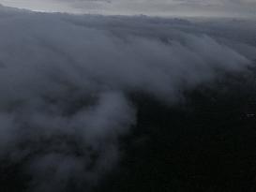
[[256,0],[0,0],[0,4],[69,13],[256,17]]

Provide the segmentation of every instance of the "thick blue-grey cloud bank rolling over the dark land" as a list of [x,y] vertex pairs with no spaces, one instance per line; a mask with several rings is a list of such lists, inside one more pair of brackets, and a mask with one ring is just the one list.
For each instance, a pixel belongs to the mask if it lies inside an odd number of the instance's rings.
[[247,22],[0,14],[0,158],[37,192],[89,190],[112,170],[136,126],[131,94],[171,105],[256,55]]

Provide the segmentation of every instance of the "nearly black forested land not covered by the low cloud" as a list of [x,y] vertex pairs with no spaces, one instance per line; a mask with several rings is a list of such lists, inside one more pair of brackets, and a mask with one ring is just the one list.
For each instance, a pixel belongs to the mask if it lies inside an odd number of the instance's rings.
[[[226,76],[186,93],[174,106],[131,96],[138,123],[122,141],[122,161],[95,191],[254,191],[254,72]],[[25,191],[23,163],[1,162],[2,192]],[[83,191],[72,185],[69,191]]]

